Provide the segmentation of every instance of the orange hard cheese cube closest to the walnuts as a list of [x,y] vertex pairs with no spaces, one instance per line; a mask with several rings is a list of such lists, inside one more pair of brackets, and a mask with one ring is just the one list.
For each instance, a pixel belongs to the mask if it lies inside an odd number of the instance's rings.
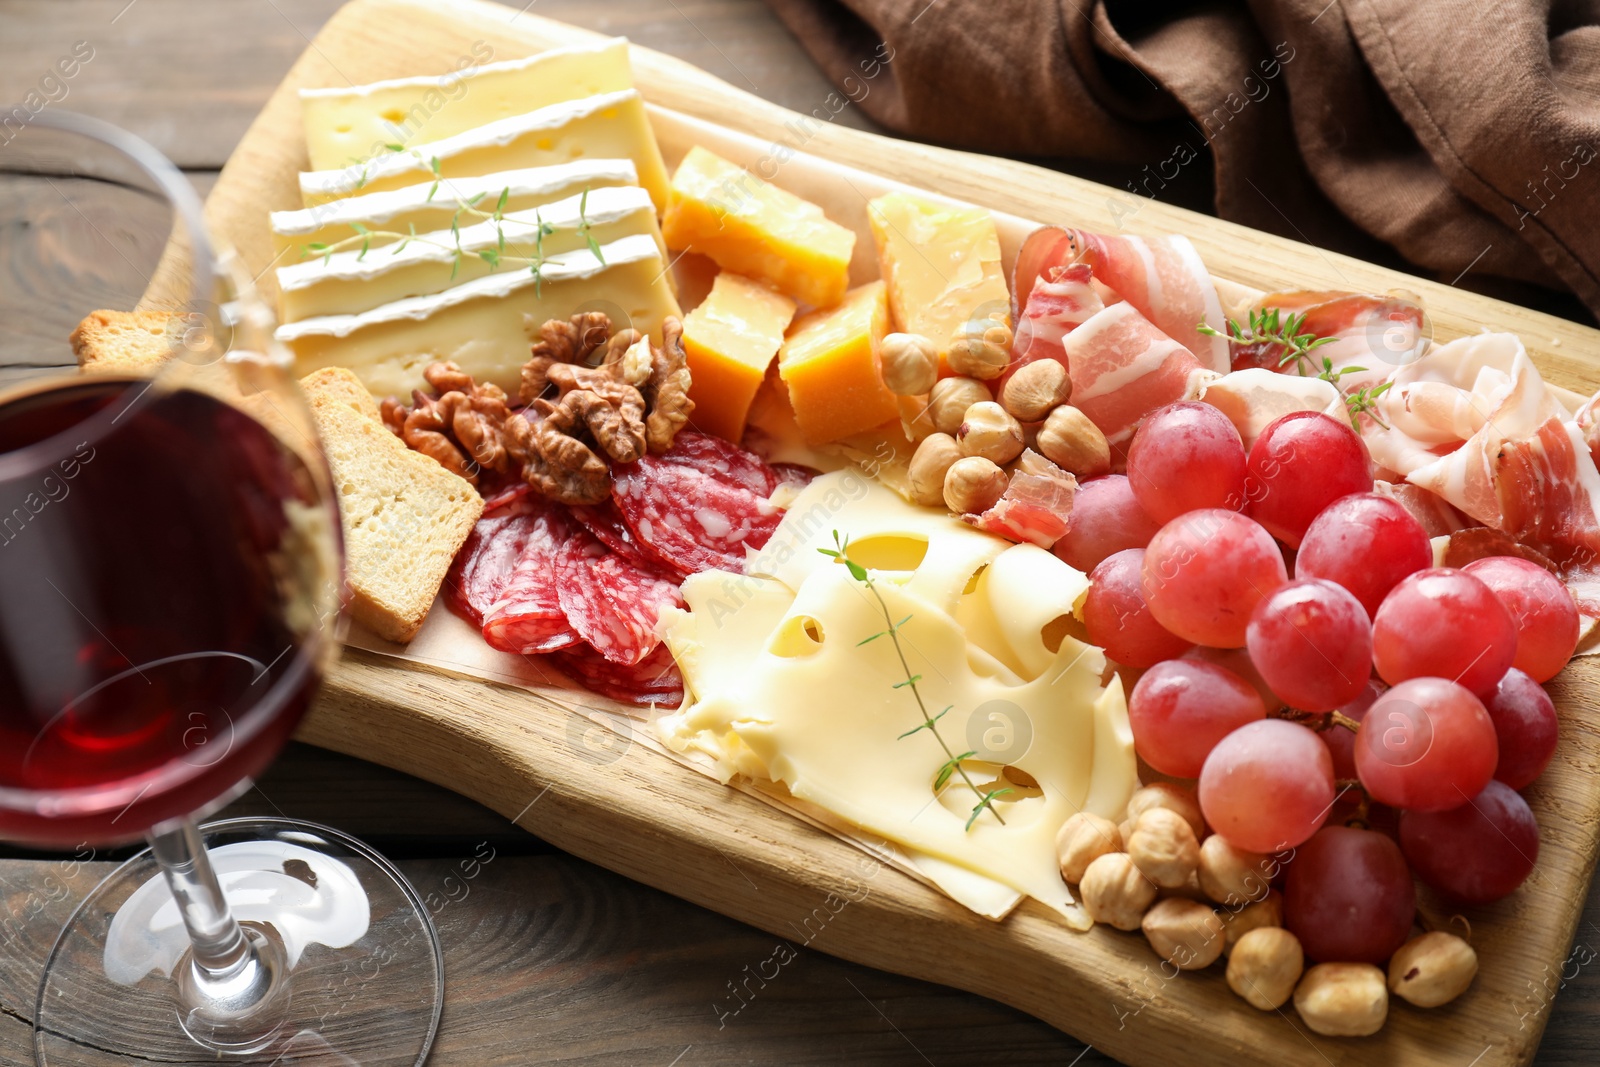
[[683,317],[694,429],[730,442],[744,437],[750,402],[794,317],[787,296],[726,270],[717,275],[704,302]]

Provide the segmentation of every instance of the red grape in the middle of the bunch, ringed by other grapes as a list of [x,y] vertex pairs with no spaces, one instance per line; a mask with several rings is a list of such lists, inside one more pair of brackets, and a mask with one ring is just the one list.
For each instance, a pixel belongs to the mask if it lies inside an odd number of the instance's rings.
[[1373,677],[1373,624],[1342,587],[1307,577],[1278,587],[1250,616],[1256,670],[1286,704],[1331,712]]

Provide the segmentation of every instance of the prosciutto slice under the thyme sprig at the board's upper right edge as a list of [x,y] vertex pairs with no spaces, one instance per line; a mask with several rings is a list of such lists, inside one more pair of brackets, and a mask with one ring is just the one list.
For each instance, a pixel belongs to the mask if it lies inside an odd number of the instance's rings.
[[[1328,358],[1336,371],[1365,368],[1339,376],[1346,394],[1376,386],[1395,370],[1414,363],[1427,349],[1427,320],[1422,306],[1408,293],[1331,293],[1296,290],[1269,293],[1254,310],[1277,307],[1285,317],[1301,315],[1301,333],[1334,338],[1312,352],[1317,371]],[[1234,370],[1264,366],[1294,374],[1296,366],[1278,366],[1283,349],[1275,344],[1234,344]]]

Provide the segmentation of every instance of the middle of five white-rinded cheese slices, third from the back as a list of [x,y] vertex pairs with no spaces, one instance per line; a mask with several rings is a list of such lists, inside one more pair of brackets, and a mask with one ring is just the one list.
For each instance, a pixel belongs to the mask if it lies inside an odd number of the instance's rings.
[[[637,184],[634,160],[576,160],[480,178],[453,178],[445,195],[434,189],[432,181],[424,181],[390,192],[330,200],[315,208],[274,211],[272,243],[278,251],[277,262],[293,264],[307,258],[307,245],[334,245],[357,237],[357,226],[371,234],[373,248],[395,242],[384,234],[446,230],[459,210],[458,202],[493,210],[504,192],[506,211],[525,211],[576,197],[584,189]],[[293,250],[291,254],[283,254],[286,250]]]

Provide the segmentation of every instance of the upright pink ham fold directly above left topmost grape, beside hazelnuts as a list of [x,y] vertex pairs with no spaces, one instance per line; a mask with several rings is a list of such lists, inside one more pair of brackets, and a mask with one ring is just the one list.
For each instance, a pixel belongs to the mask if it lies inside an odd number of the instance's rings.
[[1122,445],[1157,408],[1192,400],[1216,378],[1131,302],[1112,304],[1067,334],[1072,405]]

